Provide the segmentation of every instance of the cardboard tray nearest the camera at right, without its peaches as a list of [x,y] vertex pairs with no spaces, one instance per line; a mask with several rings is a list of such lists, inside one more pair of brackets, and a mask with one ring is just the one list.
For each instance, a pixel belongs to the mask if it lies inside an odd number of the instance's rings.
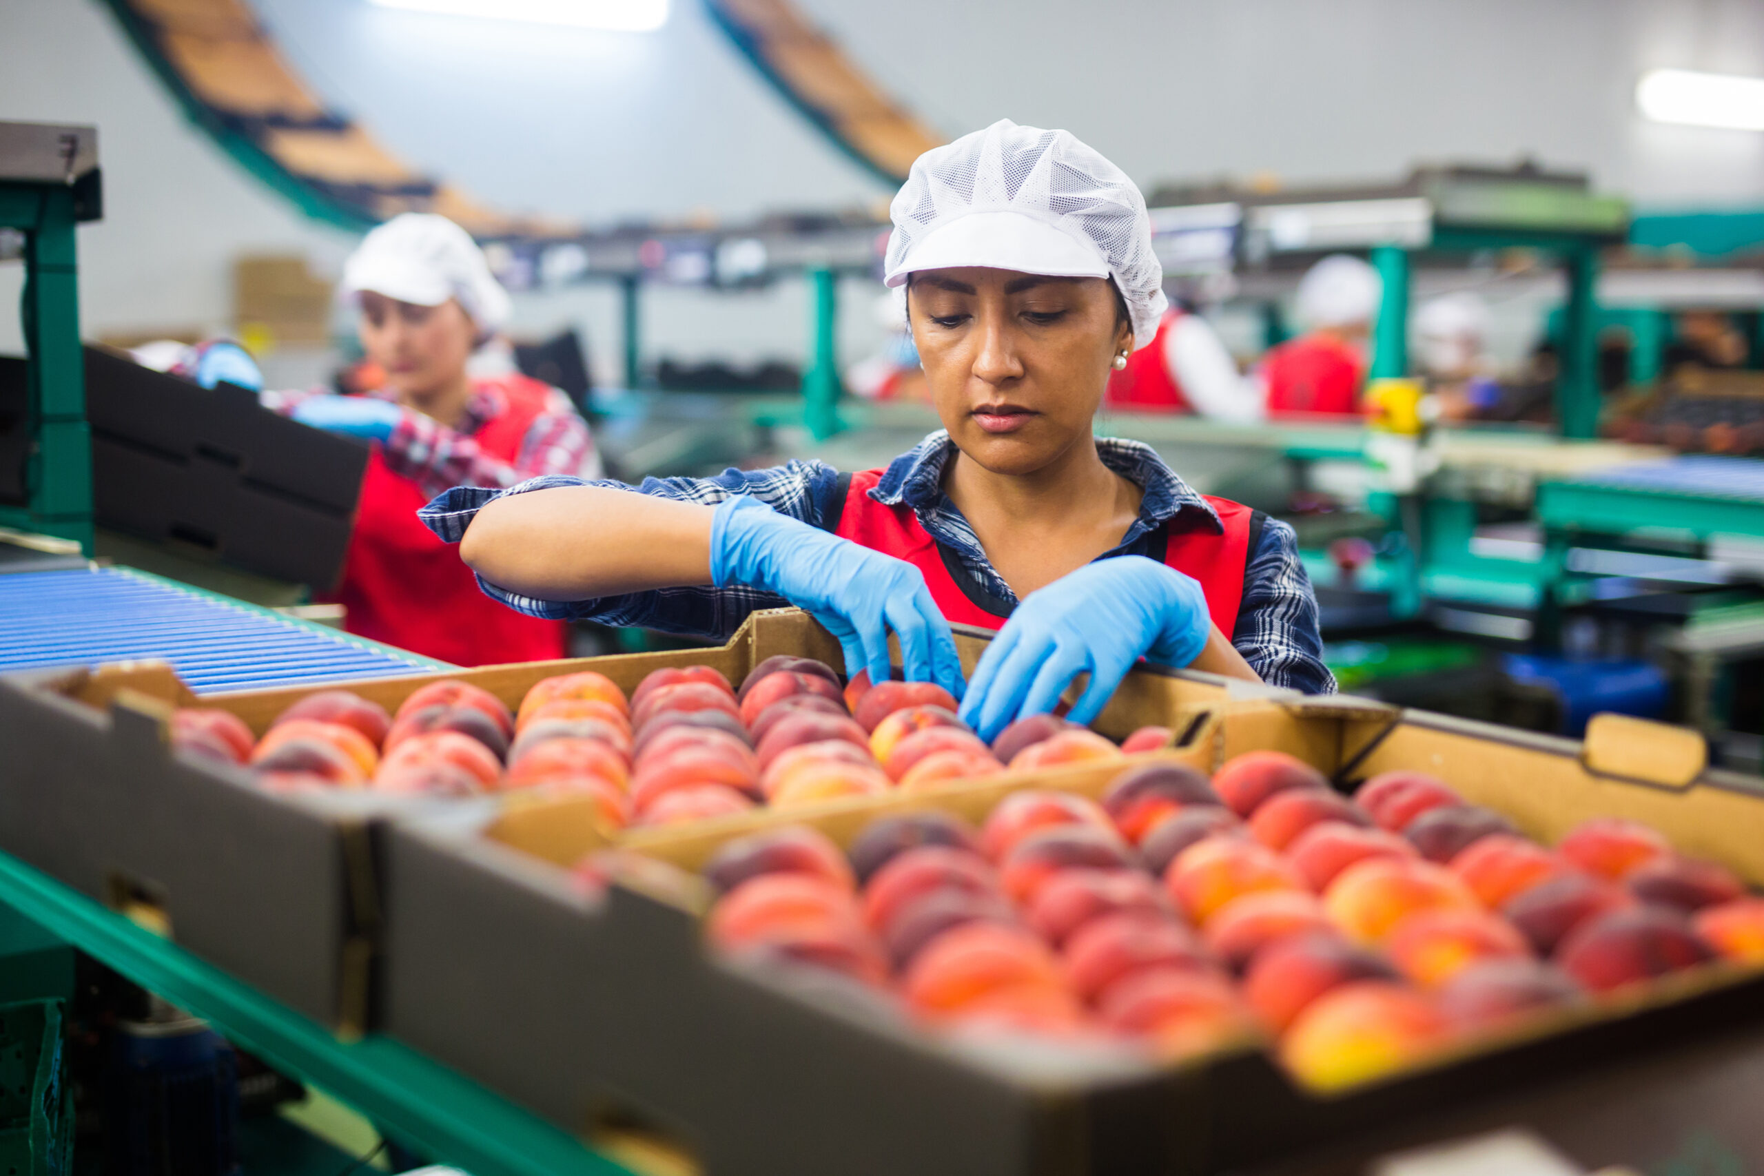
[[[1124,693],[1099,728],[1164,719],[1180,733],[1154,755],[1214,770],[1275,748],[1349,790],[1424,769],[1547,839],[1588,816],[1632,816],[1764,883],[1764,793],[1706,770],[1693,733],[1602,716],[1577,744],[1353,698],[1222,693],[1207,714],[1170,723],[1200,702],[1164,682]],[[1097,795],[1117,770],[1071,767],[1034,785]],[[847,843],[878,811],[979,818],[1025,783],[751,813],[626,845],[691,869],[759,825],[811,823]],[[552,808],[457,808],[390,830],[385,1028],[566,1128],[674,1139],[713,1176],[1233,1171],[1764,1024],[1764,975],[1708,966],[1327,1097],[1259,1046],[1159,1067],[938,1038],[836,977],[713,957],[702,896],[617,885],[586,896],[563,864],[596,839]]]

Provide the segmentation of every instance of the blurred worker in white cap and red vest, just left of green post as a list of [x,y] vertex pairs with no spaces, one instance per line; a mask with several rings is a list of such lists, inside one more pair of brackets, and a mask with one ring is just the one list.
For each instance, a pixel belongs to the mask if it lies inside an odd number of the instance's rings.
[[1381,296],[1378,270],[1358,257],[1332,254],[1311,266],[1298,282],[1305,333],[1261,360],[1268,416],[1358,413]]

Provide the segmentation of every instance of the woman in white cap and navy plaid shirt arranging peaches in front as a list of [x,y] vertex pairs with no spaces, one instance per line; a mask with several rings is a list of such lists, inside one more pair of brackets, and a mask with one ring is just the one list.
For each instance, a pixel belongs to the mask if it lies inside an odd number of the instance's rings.
[[[886,282],[944,430],[887,469],[536,478],[450,490],[423,520],[538,617],[720,638],[792,603],[875,681],[893,631],[907,679],[961,698],[988,741],[1083,674],[1069,718],[1088,723],[1140,658],[1334,689],[1291,529],[1092,435],[1166,305],[1132,182],[1064,130],[1004,120],[921,155],[891,213]],[[949,622],[998,629],[965,693]]]

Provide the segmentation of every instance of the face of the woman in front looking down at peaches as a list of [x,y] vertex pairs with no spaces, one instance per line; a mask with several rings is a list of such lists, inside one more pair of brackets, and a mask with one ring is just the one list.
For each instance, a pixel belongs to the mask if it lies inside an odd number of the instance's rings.
[[912,275],[912,337],[949,437],[998,474],[1030,474],[1090,435],[1132,330],[1108,279],[965,266]]

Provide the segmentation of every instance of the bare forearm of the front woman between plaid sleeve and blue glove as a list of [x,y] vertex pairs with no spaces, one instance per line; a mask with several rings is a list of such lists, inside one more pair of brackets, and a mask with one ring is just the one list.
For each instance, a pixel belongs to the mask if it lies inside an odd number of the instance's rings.
[[609,487],[496,499],[459,555],[490,584],[536,599],[594,599],[711,582],[713,506]]

